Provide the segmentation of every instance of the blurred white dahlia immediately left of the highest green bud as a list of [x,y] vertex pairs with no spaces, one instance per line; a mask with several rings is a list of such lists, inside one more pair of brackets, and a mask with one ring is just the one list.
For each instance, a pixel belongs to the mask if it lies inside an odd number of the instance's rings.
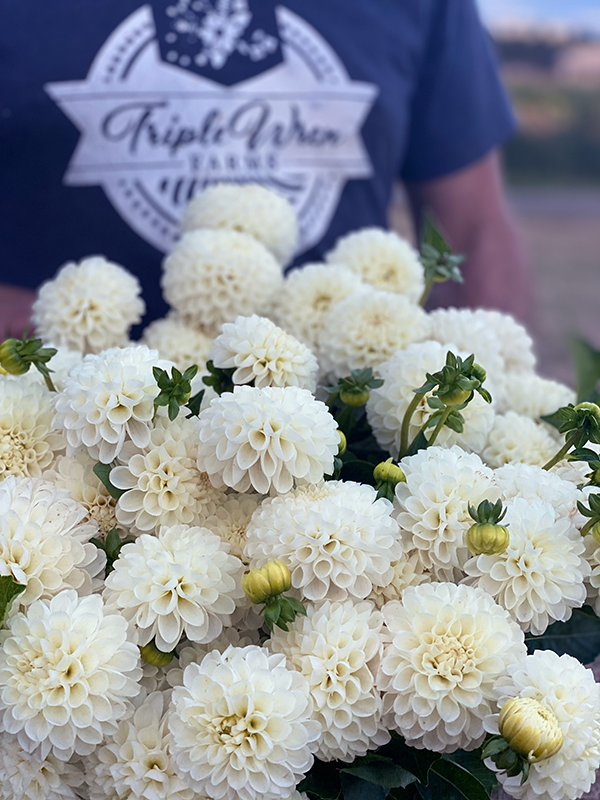
[[395,292],[418,302],[425,288],[419,254],[394,231],[363,228],[337,240],[325,256],[331,264],[344,264],[377,289]]

